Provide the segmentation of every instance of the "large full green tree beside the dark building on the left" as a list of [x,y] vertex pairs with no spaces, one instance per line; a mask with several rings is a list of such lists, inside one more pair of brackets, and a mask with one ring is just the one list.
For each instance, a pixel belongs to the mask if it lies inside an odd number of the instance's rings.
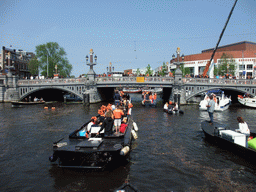
[[36,46],[36,57],[39,61],[39,67],[42,70],[41,74],[47,76],[48,73],[48,77],[53,77],[56,70],[55,65],[57,65],[59,75],[69,77],[72,71],[72,65],[69,64],[66,55],[64,49],[56,42],[48,42]]

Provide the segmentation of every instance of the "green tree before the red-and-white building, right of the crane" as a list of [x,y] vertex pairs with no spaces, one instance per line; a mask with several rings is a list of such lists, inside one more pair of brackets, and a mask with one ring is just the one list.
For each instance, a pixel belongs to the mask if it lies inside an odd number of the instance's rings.
[[236,62],[232,55],[223,53],[217,66],[214,67],[214,75],[224,76],[226,74],[235,75]]

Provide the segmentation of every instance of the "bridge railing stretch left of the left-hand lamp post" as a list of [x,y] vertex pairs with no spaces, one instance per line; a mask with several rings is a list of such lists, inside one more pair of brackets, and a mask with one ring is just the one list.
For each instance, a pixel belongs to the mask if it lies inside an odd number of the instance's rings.
[[86,78],[30,79],[18,80],[18,85],[78,84],[86,81]]

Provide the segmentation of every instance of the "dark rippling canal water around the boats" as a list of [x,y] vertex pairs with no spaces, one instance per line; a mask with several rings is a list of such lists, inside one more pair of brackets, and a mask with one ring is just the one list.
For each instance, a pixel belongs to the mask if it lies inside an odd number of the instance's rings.
[[[198,105],[181,106],[183,115],[143,107],[132,96],[139,139],[130,162],[113,170],[81,171],[51,165],[52,143],[97,114],[102,104],[58,104],[12,108],[0,104],[0,191],[113,191],[127,178],[140,191],[253,191],[256,166],[204,140],[200,122],[208,114]],[[242,116],[256,132],[256,110],[232,104],[214,119],[238,128]]]

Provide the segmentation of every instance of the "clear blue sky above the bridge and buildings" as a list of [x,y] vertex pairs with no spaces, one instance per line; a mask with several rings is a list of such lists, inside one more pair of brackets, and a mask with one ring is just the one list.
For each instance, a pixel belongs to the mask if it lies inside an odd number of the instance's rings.
[[[73,66],[89,71],[90,49],[97,74],[155,69],[176,55],[215,48],[235,0],[1,0],[0,46],[35,52],[57,42]],[[256,0],[238,0],[219,46],[256,42]],[[210,59],[210,58],[209,58]]]

